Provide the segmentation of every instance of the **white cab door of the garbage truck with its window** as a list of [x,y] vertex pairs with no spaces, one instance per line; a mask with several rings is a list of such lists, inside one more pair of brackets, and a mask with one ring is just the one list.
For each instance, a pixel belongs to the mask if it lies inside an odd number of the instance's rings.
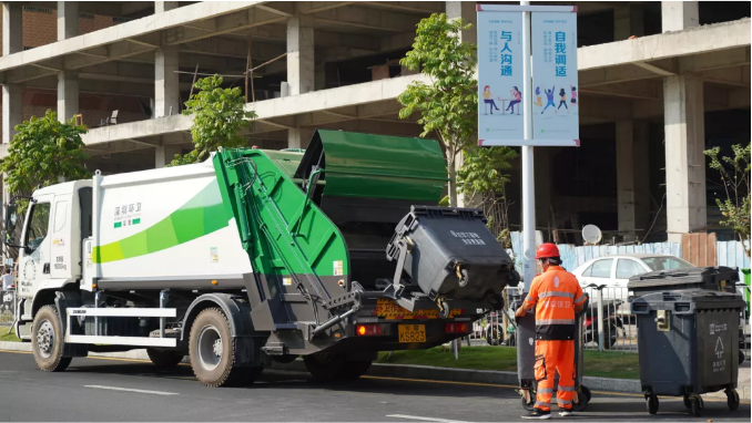
[[33,295],[50,280],[50,212],[53,195],[43,195],[31,204],[22,238],[26,248],[19,255],[19,290],[23,297]]

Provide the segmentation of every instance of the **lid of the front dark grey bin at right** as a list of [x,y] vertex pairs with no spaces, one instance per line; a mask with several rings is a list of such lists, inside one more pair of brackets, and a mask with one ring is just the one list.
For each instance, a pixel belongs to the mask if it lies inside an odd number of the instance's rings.
[[[647,293],[636,298],[632,303],[648,303],[651,309],[674,309],[678,303],[693,305],[694,310],[742,309],[746,303],[740,295],[698,289],[667,290]],[[633,306],[633,307],[634,307]]]

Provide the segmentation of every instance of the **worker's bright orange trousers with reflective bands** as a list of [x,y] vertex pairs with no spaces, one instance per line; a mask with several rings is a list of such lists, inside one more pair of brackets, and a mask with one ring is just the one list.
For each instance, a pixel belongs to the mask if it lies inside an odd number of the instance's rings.
[[575,398],[575,341],[536,341],[536,409],[550,411],[553,380],[559,372],[556,401],[561,409],[571,409]]

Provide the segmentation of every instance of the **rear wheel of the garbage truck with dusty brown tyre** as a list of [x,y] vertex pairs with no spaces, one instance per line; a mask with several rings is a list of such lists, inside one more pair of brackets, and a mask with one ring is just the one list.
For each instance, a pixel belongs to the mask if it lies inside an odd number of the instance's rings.
[[203,310],[193,321],[189,355],[193,373],[211,388],[253,383],[263,370],[235,365],[235,339],[219,308]]

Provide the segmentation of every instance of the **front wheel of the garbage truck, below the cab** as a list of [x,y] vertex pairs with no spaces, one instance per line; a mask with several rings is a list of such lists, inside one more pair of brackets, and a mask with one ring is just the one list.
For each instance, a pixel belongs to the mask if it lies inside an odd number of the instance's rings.
[[44,306],[37,312],[32,324],[31,350],[37,367],[45,372],[62,372],[71,363],[70,357],[62,357],[63,330],[58,309]]

